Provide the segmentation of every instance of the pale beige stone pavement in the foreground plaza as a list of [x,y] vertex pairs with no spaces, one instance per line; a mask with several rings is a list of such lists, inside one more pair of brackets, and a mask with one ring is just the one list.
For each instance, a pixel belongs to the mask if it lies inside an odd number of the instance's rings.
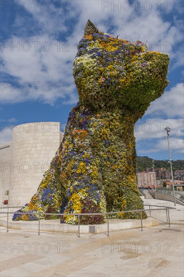
[[[173,206],[145,199],[145,203]],[[1,277],[183,276],[183,206],[152,211],[159,226],[105,234],[54,234],[1,227]]]

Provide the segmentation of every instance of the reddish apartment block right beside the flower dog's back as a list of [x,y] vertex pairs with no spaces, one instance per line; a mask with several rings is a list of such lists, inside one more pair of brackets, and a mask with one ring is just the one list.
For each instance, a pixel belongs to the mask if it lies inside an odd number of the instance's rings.
[[154,187],[156,185],[155,172],[137,172],[137,185],[138,187]]

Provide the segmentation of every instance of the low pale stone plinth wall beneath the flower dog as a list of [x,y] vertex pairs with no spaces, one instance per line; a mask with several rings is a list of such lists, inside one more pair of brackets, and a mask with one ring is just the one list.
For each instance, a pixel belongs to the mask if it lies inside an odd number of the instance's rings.
[[[7,227],[7,221],[0,219],[0,225]],[[143,227],[158,225],[158,219],[147,218],[142,220]],[[91,225],[92,226],[92,225]],[[105,233],[107,232],[107,223],[93,225],[80,225],[80,233]],[[109,231],[119,231],[124,229],[141,228],[140,220],[109,220]],[[9,229],[38,231],[38,221],[9,221]],[[90,229],[90,230],[89,230]],[[91,230],[93,229],[93,230]],[[95,230],[94,230],[95,229]],[[40,231],[78,233],[78,225],[60,224],[59,220],[40,220]]]

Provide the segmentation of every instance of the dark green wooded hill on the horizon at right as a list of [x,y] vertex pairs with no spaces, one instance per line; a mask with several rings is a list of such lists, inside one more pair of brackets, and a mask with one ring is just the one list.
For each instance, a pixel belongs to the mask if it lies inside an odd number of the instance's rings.
[[[137,156],[137,171],[144,171],[145,167],[152,167],[152,160],[148,156]],[[170,170],[170,164],[168,160],[154,160],[154,168],[161,168],[164,167],[166,169]],[[184,161],[183,160],[177,160],[177,161],[172,161],[172,169],[178,170],[178,169],[183,169],[184,168]]]

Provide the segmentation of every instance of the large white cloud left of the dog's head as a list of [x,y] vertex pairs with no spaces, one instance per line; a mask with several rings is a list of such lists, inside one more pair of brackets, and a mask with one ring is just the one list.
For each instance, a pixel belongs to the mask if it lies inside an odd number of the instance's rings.
[[[72,76],[73,45],[50,40],[46,35],[30,37],[29,44],[25,41],[14,36],[9,41],[10,47],[2,52],[2,71],[17,79],[14,84],[9,82],[2,85],[2,102],[42,100],[54,104],[61,98],[65,102],[76,103]],[[19,48],[12,48],[13,45],[19,45]],[[50,50],[45,51],[48,47]],[[29,51],[25,51],[29,48]],[[20,89],[17,88],[18,84]]]

